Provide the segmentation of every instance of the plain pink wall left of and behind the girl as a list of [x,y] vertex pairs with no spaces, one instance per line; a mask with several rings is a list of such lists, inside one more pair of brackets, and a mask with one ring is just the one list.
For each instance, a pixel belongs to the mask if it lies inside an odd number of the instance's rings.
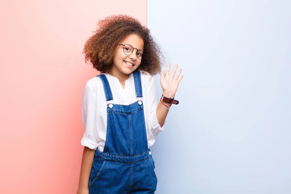
[[81,96],[97,75],[82,48],[113,14],[145,25],[146,0],[0,2],[0,194],[76,193]]

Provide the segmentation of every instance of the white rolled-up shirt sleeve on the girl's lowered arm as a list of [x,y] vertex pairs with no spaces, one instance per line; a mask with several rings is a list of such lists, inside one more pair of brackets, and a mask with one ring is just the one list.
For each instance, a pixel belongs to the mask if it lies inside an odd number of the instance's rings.
[[81,145],[94,150],[98,147],[96,112],[96,91],[92,91],[87,82],[82,97],[82,121],[85,132]]

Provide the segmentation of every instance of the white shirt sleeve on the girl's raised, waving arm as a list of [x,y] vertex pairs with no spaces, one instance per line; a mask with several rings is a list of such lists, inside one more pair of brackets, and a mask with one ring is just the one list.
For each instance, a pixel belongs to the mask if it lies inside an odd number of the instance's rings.
[[151,125],[151,131],[153,135],[157,135],[159,132],[163,131],[163,126],[160,126],[156,109],[158,107],[158,100],[156,95],[156,86],[155,86],[155,80],[154,77],[151,77],[148,81],[148,99],[150,104],[150,125]]

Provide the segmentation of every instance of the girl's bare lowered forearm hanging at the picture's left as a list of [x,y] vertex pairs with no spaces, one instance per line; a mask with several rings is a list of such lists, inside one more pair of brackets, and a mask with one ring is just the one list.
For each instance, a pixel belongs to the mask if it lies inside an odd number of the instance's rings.
[[86,146],[84,147],[79,178],[79,188],[88,188],[94,155],[94,149],[90,149]]

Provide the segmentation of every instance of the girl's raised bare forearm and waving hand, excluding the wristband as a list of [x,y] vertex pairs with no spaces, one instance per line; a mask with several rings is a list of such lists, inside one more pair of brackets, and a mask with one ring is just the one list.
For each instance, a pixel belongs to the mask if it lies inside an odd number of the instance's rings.
[[[170,74],[170,67],[171,65],[168,65],[166,72],[162,71],[160,82],[162,86],[163,96],[174,98],[178,89],[178,85],[183,78],[183,75],[180,76],[182,69],[179,69],[178,73],[176,74],[178,65],[175,65],[174,69],[172,70]],[[166,103],[166,102],[163,102],[163,103],[168,106],[170,105],[170,103]],[[161,102],[159,102],[159,105],[156,109],[156,114],[157,114],[157,119],[160,126],[162,126],[163,123],[165,122],[168,112],[169,111],[167,110],[167,107],[164,106]]]

